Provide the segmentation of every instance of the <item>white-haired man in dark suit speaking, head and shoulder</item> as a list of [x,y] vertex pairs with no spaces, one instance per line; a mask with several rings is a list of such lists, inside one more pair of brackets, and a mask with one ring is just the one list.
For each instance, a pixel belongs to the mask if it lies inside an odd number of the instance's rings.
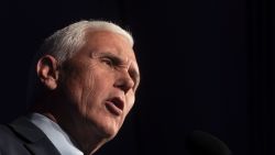
[[0,126],[0,154],[94,154],[133,107],[133,38],[105,21],[68,25],[45,40],[33,81],[31,113]]

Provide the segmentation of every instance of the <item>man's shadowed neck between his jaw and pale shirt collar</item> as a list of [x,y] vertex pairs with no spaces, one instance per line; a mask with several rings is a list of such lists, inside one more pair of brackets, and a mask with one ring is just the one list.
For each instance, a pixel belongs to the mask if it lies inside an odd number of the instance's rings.
[[[51,104],[58,104],[57,102],[51,102]],[[58,106],[57,106],[58,107]],[[55,123],[57,123],[75,142],[85,155],[92,155],[98,148],[100,148],[107,139],[97,134],[92,124],[87,124],[84,119],[77,113],[67,113],[66,109],[48,107],[48,103],[38,103],[32,108],[33,112],[41,113]]]

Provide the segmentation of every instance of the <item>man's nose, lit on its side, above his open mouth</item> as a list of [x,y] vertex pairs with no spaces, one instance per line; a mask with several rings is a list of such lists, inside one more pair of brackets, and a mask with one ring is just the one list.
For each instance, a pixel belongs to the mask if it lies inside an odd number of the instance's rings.
[[124,91],[124,93],[127,93],[130,89],[132,89],[134,87],[134,81],[131,78],[128,70],[122,71],[118,76],[118,78],[114,82],[114,87],[121,89],[122,91]]

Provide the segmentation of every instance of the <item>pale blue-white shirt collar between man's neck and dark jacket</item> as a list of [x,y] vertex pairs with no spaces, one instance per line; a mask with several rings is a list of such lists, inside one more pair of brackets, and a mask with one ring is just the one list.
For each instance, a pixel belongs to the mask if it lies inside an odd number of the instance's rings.
[[32,113],[30,120],[46,134],[62,155],[84,155],[70,141],[68,134],[48,118],[40,113]]

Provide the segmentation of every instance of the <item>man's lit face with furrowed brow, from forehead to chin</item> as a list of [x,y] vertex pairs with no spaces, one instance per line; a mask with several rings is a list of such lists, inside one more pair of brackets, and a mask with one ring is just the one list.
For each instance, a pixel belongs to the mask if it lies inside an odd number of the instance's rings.
[[100,31],[86,38],[61,75],[68,118],[79,132],[111,139],[134,104],[138,63],[129,41],[120,34]]

